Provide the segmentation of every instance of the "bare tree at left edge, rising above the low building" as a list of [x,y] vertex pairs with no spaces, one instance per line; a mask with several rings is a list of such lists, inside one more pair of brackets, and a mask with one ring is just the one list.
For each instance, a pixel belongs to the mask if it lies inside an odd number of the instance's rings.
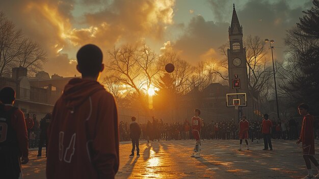
[[18,66],[36,73],[46,61],[46,53],[40,45],[24,38],[22,31],[0,12],[0,76],[11,73],[11,68]]

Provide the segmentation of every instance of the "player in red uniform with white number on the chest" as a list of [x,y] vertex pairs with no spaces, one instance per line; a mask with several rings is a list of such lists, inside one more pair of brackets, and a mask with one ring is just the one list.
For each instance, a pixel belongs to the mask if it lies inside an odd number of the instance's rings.
[[194,149],[194,153],[191,157],[195,157],[198,158],[200,157],[200,131],[201,131],[201,122],[202,119],[199,117],[200,115],[200,110],[199,109],[195,109],[194,111],[194,117],[192,117],[192,133],[193,136],[196,140],[196,145],[195,145],[195,149]]

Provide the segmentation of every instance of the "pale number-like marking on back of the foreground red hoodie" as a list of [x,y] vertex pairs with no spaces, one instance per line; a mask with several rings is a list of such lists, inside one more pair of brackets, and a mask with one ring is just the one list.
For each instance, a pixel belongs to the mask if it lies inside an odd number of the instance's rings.
[[60,132],[59,134],[59,160],[64,161],[66,163],[71,163],[72,156],[75,151],[75,137],[76,133],[74,133],[71,137],[69,146],[66,148],[64,152],[63,140],[64,140],[64,132]]

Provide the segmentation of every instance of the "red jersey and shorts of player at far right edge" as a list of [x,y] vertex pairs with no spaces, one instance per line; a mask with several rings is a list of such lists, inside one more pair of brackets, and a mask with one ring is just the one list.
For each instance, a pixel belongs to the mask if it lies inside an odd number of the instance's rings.
[[[308,155],[314,155],[314,135],[313,135],[313,116],[310,114],[306,115],[302,121],[302,127],[301,127],[301,133],[300,133],[300,139],[302,142],[303,148],[309,146],[310,154],[309,152],[305,152],[304,154]],[[307,149],[308,150],[308,149]]]

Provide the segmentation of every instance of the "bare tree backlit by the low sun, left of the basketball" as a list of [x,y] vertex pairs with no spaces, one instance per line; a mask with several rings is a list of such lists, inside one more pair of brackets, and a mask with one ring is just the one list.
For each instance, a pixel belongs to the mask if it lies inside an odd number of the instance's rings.
[[[146,94],[158,72],[157,55],[146,44],[140,47],[138,44],[114,47],[108,54],[110,64],[107,69],[112,73],[112,80],[109,77],[104,79],[104,82],[109,83],[111,80],[118,85],[124,85],[126,90],[134,93],[130,96],[138,97],[143,109],[147,110]],[[114,89],[115,87],[110,86],[111,92],[118,95],[119,89]]]

